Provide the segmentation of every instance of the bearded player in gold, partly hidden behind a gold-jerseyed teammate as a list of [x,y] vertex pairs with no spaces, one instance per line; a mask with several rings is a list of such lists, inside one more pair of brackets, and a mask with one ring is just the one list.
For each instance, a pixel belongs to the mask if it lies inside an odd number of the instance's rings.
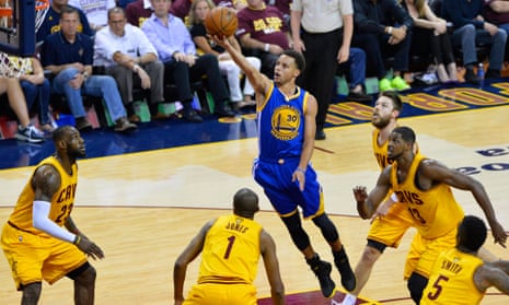
[[[392,163],[387,157],[387,139],[391,131],[397,127],[397,118],[402,110],[403,102],[395,91],[382,92],[374,102],[371,119],[371,124],[375,127],[372,134],[372,146],[380,171]],[[394,204],[386,214],[373,219],[368,233],[368,243],[355,269],[356,289],[346,295],[343,305],[357,304],[357,296],[368,282],[377,260],[386,247],[397,248],[403,235],[412,224],[413,218],[403,204]]]

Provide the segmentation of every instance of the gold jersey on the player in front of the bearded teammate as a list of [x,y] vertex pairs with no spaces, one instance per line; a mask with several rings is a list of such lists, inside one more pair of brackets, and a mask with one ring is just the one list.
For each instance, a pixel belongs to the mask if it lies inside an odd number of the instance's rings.
[[425,159],[421,154],[415,155],[408,175],[402,183],[397,181],[397,162],[394,162],[391,168],[391,185],[398,202],[407,204],[420,235],[433,239],[454,230],[463,219],[464,212],[447,184],[438,184],[429,190],[420,190],[415,185],[417,169]]

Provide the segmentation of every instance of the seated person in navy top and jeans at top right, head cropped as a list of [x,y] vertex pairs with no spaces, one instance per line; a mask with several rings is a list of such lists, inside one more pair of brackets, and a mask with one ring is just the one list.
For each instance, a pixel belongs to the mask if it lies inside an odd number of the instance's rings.
[[499,78],[504,62],[507,33],[482,16],[484,0],[443,0],[442,16],[452,22],[454,31],[452,43],[463,52],[463,66],[466,68],[465,81],[478,84],[474,73],[477,63],[476,43],[490,44],[489,67],[485,77]]

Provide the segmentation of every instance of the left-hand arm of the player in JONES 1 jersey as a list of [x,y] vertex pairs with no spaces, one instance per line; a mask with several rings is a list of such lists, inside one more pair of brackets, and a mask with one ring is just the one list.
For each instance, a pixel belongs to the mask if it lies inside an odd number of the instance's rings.
[[184,302],[184,280],[186,278],[187,265],[195,260],[204,249],[205,237],[213,222],[215,221],[209,221],[206,223],[175,260],[173,266],[173,298],[175,305]]

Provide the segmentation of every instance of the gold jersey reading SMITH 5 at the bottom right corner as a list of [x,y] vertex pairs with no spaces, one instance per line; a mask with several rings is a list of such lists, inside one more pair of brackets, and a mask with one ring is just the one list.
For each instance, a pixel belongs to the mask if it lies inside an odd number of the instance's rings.
[[474,284],[474,272],[483,261],[456,248],[443,251],[435,262],[421,305],[426,304],[479,304],[484,292]]

